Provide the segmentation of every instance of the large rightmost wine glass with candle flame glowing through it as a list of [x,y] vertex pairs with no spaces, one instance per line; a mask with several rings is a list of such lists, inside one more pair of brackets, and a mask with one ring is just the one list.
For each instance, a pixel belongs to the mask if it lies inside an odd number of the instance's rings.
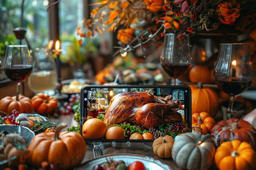
[[221,91],[229,95],[229,107],[223,119],[233,117],[235,95],[246,91],[252,84],[254,68],[250,55],[250,44],[220,44],[217,62],[214,66],[213,79]]

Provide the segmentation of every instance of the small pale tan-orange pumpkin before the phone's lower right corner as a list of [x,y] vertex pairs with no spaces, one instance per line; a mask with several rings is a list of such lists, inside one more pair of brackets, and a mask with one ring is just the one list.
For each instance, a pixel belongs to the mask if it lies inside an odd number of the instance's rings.
[[159,137],[153,142],[153,151],[155,155],[158,155],[160,158],[169,158],[172,156],[174,139],[169,135],[164,137]]

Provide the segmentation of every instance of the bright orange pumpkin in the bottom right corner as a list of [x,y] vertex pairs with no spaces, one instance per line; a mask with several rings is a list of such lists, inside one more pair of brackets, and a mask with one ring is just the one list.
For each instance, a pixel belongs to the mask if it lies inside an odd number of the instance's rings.
[[222,143],[214,156],[220,170],[255,170],[255,158],[256,152],[252,146],[239,140]]

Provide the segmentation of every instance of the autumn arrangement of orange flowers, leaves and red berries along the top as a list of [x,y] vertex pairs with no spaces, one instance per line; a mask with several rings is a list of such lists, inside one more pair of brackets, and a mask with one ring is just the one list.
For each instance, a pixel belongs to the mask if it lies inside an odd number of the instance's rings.
[[[247,2],[252,6],[248,8]],[[91,38],[97,32],[103,35],[104,31],[117,31],[120,52],[147,46],[150,41],[159,45],[167,32],[182,36],[198,30],[218,30],[222,25],[249,31],[256,21],[253,3],[247,0],[99,0],[91,4],[95,8],[90,18],[77,29],[81,37],[78,42],[82,44],[82,38]],[[244,18],[248,15],[254,20]]]

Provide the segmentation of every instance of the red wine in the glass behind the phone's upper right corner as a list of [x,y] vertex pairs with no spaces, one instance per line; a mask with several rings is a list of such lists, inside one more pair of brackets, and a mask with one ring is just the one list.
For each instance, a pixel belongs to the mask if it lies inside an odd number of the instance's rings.
[[161,66],[169,76],[176,79],[184,75],[191,67],[191,64],[162,63]]

